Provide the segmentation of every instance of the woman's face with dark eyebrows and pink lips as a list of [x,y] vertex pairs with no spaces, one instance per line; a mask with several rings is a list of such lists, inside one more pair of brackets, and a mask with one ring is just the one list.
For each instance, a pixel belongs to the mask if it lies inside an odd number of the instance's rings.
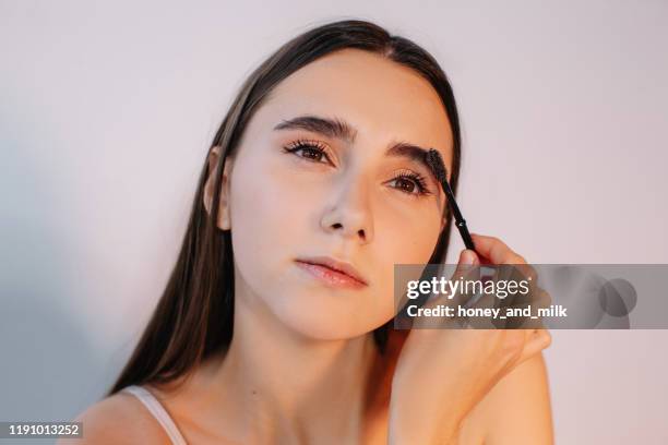
[[[450,171],[448,116],[410,69],[346,49],[284,80],[227,160],[237,304],[320,339],[392,318],[394,264],[427,263],[444,224],[445,196],[407,145],[434,147]],[[318,278],[299,261],[314,257],[349,263],[366,285]]]

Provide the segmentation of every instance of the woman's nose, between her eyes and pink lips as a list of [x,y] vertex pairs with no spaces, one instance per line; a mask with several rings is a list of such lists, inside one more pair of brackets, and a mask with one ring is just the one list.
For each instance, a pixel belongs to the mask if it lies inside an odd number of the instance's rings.
[[366,244],[373,240],[373,218],[362,178],[347,179],[333,205],[321,218],[327,232],[339,232],[346,239]]

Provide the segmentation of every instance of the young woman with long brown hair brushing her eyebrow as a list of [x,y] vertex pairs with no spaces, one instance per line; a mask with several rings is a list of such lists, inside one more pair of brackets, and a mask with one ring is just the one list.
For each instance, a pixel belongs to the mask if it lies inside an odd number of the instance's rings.
[[[456,192],[455,99],[414,43],[342,21],[272,55],[214,137],[167,288],[77,418],[83,442],[551,443],[546,330],[392,328],[394,264],[444,258],[450,238],[419,147]],[[526,264],[474,242],[461,267]]]

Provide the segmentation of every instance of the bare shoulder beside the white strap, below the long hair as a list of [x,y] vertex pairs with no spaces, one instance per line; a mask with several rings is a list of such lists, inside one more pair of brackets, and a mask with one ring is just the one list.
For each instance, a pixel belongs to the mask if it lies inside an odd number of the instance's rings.
[[92,405],[74,421],[82,422],[83,437],[60,440],[58,445],[170,444],[157,420],[136,397],[127,393],[114,394]]

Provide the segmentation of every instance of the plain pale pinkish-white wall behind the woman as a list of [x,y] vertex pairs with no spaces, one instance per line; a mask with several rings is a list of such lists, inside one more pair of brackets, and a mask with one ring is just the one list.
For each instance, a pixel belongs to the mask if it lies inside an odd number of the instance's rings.
[[[668,263],[668,2],[327,3],[0,0],[0,420],[102,396],[232,95],[332,20],[374,21],[449,74],[472,231],[532,263]],[[668,443],[668,332],[552,335],[559,444]]]

